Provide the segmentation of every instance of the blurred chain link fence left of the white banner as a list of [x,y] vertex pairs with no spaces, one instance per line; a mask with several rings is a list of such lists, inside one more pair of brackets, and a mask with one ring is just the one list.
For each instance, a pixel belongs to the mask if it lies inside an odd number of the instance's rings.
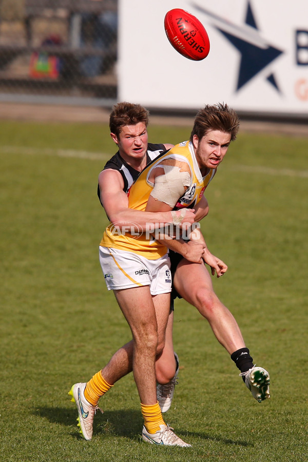
[[117,98],[117,0],[0,0],[0,99]]

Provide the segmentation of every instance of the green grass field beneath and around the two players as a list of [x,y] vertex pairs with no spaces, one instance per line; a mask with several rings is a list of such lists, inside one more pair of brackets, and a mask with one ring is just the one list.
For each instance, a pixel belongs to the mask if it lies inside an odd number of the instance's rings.
[[[0,133],[1,460],[307,460],[308,139],[240,134],[207,190],[202,228],[229,266],[215,289],[271,374],[271,399],[252,398],[207,322],[178,300],[180,383],[166,420],[192,444],[181,449],[141,441],[131,374],[101,400],[92,441],[67,394],[130,339],[98,261],[108,127],[2,121]],[[176,143],[189,127],[149,133]]]

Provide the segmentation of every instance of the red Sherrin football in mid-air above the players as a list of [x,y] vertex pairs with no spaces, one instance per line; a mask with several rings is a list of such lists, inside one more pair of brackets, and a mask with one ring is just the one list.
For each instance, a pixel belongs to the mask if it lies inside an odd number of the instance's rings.
[[172,47],[189,60],[201,61],[208,55],[209,40],[200,21],[181,8],[167,12],[165,31]]

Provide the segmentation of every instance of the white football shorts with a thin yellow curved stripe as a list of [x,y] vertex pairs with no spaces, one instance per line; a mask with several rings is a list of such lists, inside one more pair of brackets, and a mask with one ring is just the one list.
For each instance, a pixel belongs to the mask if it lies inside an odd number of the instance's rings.
[[151,295],[171,292],[168,254],[148,260],[133,252],[100,245],[100,263],[108,291],[149,285]]

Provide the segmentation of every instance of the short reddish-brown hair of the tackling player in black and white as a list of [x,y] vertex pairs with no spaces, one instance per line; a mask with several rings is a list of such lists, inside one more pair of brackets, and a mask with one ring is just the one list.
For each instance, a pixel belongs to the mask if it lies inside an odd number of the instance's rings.
[[149,112],[140,104],[122,102],[115,104],[109,118],[110,132],[119,137],[121,128],[125,125],[136,125],[143,122],[145,126],[149,123]]

